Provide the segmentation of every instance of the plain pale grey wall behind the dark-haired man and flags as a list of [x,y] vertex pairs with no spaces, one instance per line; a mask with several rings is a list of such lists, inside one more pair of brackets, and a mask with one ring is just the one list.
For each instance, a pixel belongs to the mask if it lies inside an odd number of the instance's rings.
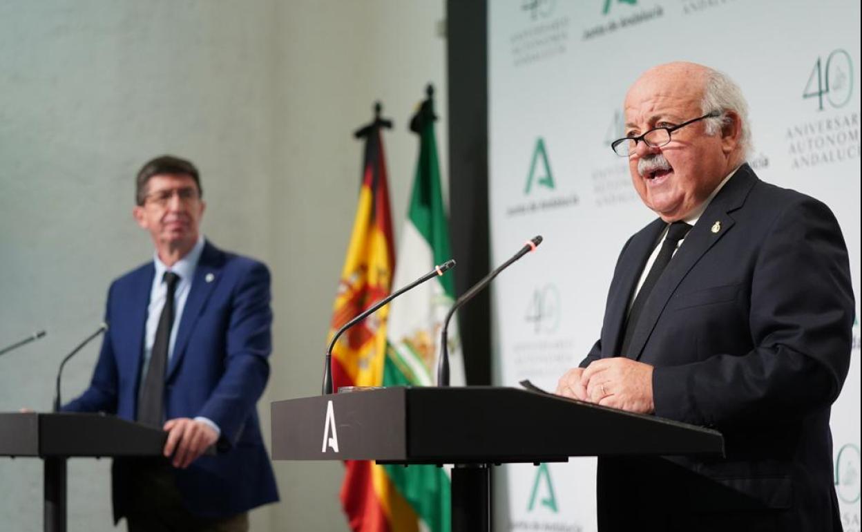
[[[149,157],[194,160],[203,232],[273,272],[272,378],[259,404],[319,391],[356,204],[353,129],[384,102],[396,225],[424,85],[445,116],[443,2],[0,1],[0,411],[48,410],[59,360],[97,327],[110,279],[149,260],[131,218]],[[445,121],[441,121],[441,126]],[[440,147],[446,142],[440,128]],[[445,160],[445,153],[441,153]],[[67,366],[82,391],[97,342]],[[254,530],[346,530],[338,463],[276,465]],[[71,460],[69,529],[111,530],[109,462]],[[41,463],[0,459],[0,529],[41,529]]]

